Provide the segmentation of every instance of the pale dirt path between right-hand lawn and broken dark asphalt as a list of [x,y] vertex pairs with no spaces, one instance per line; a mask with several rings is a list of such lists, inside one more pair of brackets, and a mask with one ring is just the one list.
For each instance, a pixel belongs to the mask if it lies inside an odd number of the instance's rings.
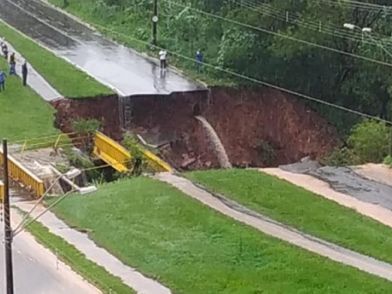
[[392,227],[392,211],[376,204],[360,201],[354,197],[332,189],[328,183],[312,176],[284,171],[280,168],[262,168],[261,172],[286,180],[296,186],[303,187],[340,205],[352,208],[360,214],[367,215],[379,222]]

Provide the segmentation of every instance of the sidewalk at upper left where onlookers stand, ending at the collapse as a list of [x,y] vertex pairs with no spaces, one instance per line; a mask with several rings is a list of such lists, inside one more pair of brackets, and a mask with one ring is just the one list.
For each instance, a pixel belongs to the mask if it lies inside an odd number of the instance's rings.
[[[0,41],[3,41],[0,38]],[[16,56],[16,73],[22,77],[22,63],[24,58],[21,56],[20,53],[15,51],[12,46],[6,42],[8,45],[8,50],[10,54],[12,52],[15,52]],[[58,93],[40,74],[37,73],[37,71],[28,63],[27,60],[27,69],[28,69],[28,75],[27,75],[27,85],[32,88],[38,95],[40,95],[43,99],[46,101],[51,101],[53,99],[62,97],[60,93]],[[6,72],[8,73],[9,68],[5,69]],[[22,81],[21,81],[22,83]]]

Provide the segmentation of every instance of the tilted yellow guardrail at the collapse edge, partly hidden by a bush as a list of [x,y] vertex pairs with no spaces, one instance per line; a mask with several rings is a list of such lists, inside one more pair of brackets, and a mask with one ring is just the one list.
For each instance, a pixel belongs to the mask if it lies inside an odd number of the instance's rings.
[[[105,134],[97,132],[94,135],[93,153],[119,172],[127,172],[130,170],[129,162],[132,159],[130,152]],[[158,158],[152,152],[144,150],[143,155],[147,158],[148,166],[152,170],[156,172],[173,172],[173,169],[169,164]]]

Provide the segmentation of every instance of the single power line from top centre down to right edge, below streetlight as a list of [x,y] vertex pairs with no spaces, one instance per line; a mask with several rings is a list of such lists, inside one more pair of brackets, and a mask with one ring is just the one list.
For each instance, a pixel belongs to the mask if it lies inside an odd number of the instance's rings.
[[219,16],[219,15],[212,14],[212,13],[209,13],[209,12],[206,12],[206,11],[203,11],[203,10],[199,10],[199,9],[193,8],[193,7],[188,6],[188,5],[183,5],[183,4],[180,4],[180,3],[177,3],[177,2],[173,2],[171,0],[163,0],[163,1],[171,3],[172,5],[177,5],[177,6],[180,6],[180,7],[183,7],[183,8],[188,8],[189,10],[192,10],[194,12],[197,12],[197,13],[200,13],[200,14],[204,14],[204,15],[207,15],[207,16],[212,17],[212,18],[217,18],[217,19],[220,19],[222,21],[226,21],[226,22],[238,25],[238,26],[247,27],[247,28],[254,29],[254,30],[259,30],[259,31],[267,33],[267,34],[271,34],[271,35],[275,35],[275,36],[278,36],[278,37],[286,38],[286,39],[289,39],[289,40],[292,40],[292,41],[296,41],[296,42],[300,42],[300,43],[303,43],[303,44],[306,44],[306,45],[309,45],[309,46],[313,46],[313,47],[329,50],[329,51],[332,51],[332,52],[335,52],[335,53],[340,53],[340,54],[344,54],[344,55],[347,55],[347,56],[360,58],[360,59],[363,59],[363,60],[366,60],[366,61],[371,61],[371,62],[382,64],[382,65],[392,66],[392,64],[388,63],[388,62],[372,59],[372,58],[365,57],[365,56],[362,56],[362,55],[358,55],[358,54],[355,54],[355,53],[349,53],[349,52],[346,52],[346,51],[341,51],[339,49],[335,49],[335,48],[331,48],[331,47],[328,47],[328,46],[312,43],[312,42],[305,41],[305,40],[302,40],[302,39],[297,39],[295,37],[284,35],[284,34],[281,34],[281,33],[278,33],[278,32],[274,32],[274,31],[271,31],[271,30],[268,30],[268,29],[265,29],[265,28],[254,27],[254,26],[251,26],[251,25],[248,25],[248,24],[244,24],[244,23],[232,20],[232,19],[228,19],[228,18]]

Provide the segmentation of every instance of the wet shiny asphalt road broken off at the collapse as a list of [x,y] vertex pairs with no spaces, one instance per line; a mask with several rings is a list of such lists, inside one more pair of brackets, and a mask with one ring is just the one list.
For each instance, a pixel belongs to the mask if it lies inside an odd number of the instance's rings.
[[156,63],[106,40],[39,0],[0,0],[0,5],[2,20],[122,95],[170,94],[203,89],[201,84],[174,71],[162,73]]

